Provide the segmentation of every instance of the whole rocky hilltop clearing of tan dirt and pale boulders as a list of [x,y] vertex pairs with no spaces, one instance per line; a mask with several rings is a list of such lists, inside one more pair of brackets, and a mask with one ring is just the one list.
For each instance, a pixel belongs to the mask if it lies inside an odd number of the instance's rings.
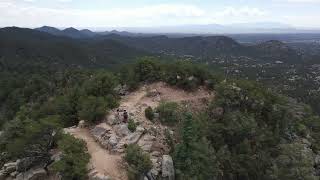
[[[138,144],[149,153],[153,163],[153,169],[149,173],[149,179],[156,179],[162,170],[173,166],[172,159],[168,160],[169,148],[165,143],[165,130],[174,133],[170,128],[159,122],[151,122],[146,119],[144,110],[148,106],[156,108],[161,101],[174,101],[186,105],[198,106],[203,99],[212,96],[205,89],[188,93],[181,89],[172,88],[164,83],[145,85],[135,92],[129,93],[120,101],[120,111],[127,110],[129,119],[138,123],[135,132],[128,130],[127,124],[119,122],[115,118],[115,110],[111,110],[105,121],[90,129],[74,127],[66,129],[66,132],[82,139],[87,143],[88,152],[91,155],[89,176],[91,179],[115,179],[126,180],[125,163],[122,160],[124,148],[127,144]],[[187,102],[187,103],[186,103]],[[164,163],[168,164],[164,167]],[[172,167],[173,168],[173,167]],[[169,175],[168,175],[169,173]],[[174,171],[162,173],[174,176]]]

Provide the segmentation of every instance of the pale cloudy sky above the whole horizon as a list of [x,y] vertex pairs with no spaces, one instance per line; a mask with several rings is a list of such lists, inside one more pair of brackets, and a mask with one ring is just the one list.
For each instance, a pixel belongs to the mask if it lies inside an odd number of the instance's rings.
[[320,0],[0,0],[0,27],[277,22],[320,28]]

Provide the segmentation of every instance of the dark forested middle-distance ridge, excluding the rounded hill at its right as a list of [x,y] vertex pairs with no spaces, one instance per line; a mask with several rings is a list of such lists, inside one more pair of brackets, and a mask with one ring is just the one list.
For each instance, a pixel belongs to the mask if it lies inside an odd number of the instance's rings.
[[241,54],[246,48],[225,36],[168,38],[154,37],[125,37],[119,35],[104,36],[124,44],[151,52],[163,52],[179,56],[193,55],[196,57],[213,57],[225,54]]

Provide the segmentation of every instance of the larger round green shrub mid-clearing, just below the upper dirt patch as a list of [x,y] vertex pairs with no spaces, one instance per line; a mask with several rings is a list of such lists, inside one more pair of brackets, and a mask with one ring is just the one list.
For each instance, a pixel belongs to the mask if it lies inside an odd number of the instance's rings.
[[162,102],[157,108],[162,123],[173,125],[178,121],[178,107],[175,102]]

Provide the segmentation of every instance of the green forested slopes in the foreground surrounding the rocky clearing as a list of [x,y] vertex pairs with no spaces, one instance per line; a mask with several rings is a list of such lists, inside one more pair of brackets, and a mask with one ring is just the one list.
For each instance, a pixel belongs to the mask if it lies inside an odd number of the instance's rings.
[[[168,119],[163,123],[178,129],[178,134],[168,136],[168,143],[171,138],[175,142],[171,155],[177,179],[318,178],[319,117],[258,84],[225,82],[202,66],[163,64],[153,58],[115,74],[30,67],[34,69],[1,74],[1,165],[20,159],[25,169],[42,164],[63,179],[86,179],[84,145],[62,135],[61,128],[80,119],[93,124],[102,120],[107,109],[118,106],[114,88],[119,83],[134,90],[141,83],[164,81],[188,91],[205,85],[216,92],[207,108],[197,113],[167,107],[176,114],[164,116]],[[51,149],[64,154],[54,164]]]

